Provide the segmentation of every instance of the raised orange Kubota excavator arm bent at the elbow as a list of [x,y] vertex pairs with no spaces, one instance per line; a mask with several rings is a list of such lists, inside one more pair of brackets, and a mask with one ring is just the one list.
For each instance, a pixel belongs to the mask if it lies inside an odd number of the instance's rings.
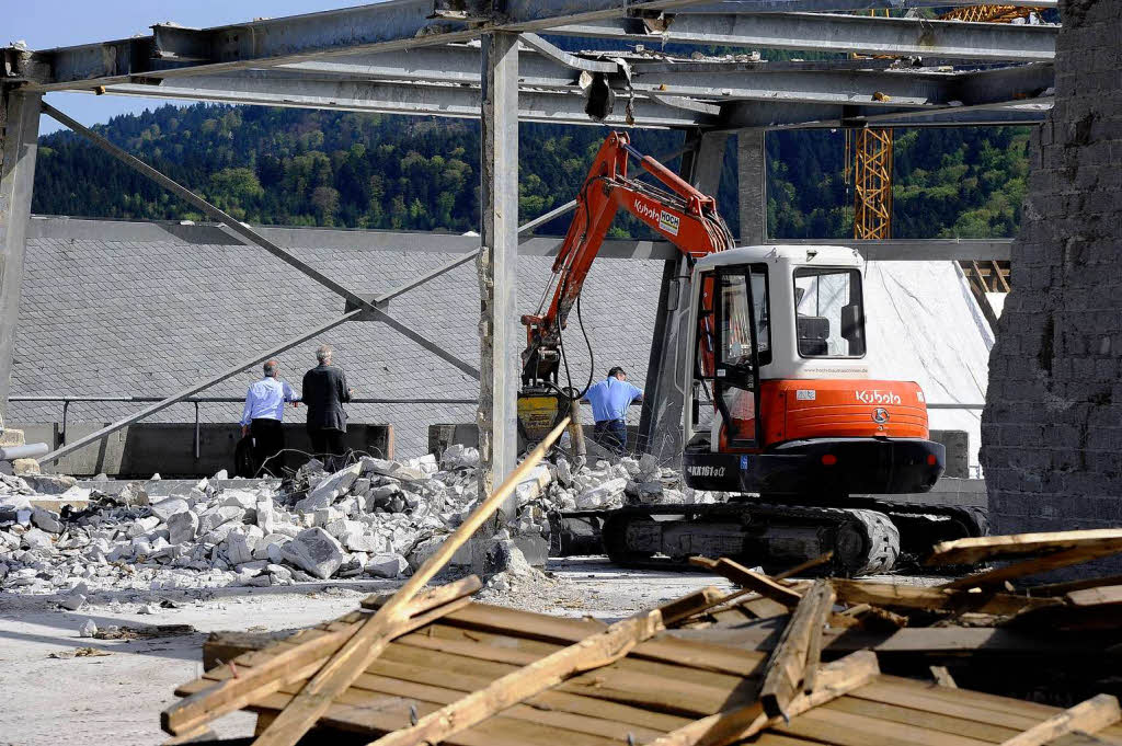
[[[659,184],[628,177],[628,157],[635,158]],[[714,197],[693,188],[651,156],[638,153],[626,133],[608,135],[577,195],[577,210],[537,313],[522,317],[526,326],[526,349],[522,353],[524,388],[557,386],[562,330],[620,210],[653,228],[691,263],[734,246]]]

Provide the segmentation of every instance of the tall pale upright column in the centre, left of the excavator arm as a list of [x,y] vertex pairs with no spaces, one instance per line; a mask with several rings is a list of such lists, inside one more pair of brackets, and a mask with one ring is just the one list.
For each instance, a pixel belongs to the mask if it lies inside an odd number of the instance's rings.
[[[482,36],[479,271],[479,476],[481,495],[516,466],[521,377],[515,324],[518,256],[518,35]],[[513,514],[515,506],[504,506]]]

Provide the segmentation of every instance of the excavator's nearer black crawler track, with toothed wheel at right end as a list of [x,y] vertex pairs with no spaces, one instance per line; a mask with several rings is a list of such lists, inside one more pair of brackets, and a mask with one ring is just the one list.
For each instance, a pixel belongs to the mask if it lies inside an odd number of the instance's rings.
[[833,552],[830,571],[854,577],[890,571],[900,553],[892,521],[861,508],[733,503],[635,506],[565,517],[594,515],[608,558],[627,567],[665,569],[701,555],[773,571]]

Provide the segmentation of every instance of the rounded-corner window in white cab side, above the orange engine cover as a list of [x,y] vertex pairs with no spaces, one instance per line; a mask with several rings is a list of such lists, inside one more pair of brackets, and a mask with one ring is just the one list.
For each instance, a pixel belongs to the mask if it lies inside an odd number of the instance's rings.
[[865,308],[858,270],[795,269],[794,311],[801,357],[865,356]]

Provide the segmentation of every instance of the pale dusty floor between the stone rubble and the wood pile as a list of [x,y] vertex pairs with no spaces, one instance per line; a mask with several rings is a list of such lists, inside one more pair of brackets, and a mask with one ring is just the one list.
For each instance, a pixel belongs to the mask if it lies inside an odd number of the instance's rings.
[[[551,564],[549,577],[515,581],[503,595],[480,600],[563,616],[616,619],[705,584],[730,588],[711,575],[619,570],[589,560]],[[122,592],[98,597],[80,611],[59,610],[35,597],[0,595],[0,746],[108,744],[151,746],[166,738],[159,711],[180,683],[202,673],[200,648],[219,629],[276,630],[307,626],[356,608],[364,596],[392,581],[330,582],[291,588],[231,588],[169,595]],[[141,605],[168,599],[180,608],[139,615]],[[113,601],[117,601],[113,604]],[[109,625],[187,624],[192,635],[142,641],[79,636],[86,619]],[[110,655],[52,658],[90,646]],[[220,736],[249,735],[252,717],[219,721]]]

